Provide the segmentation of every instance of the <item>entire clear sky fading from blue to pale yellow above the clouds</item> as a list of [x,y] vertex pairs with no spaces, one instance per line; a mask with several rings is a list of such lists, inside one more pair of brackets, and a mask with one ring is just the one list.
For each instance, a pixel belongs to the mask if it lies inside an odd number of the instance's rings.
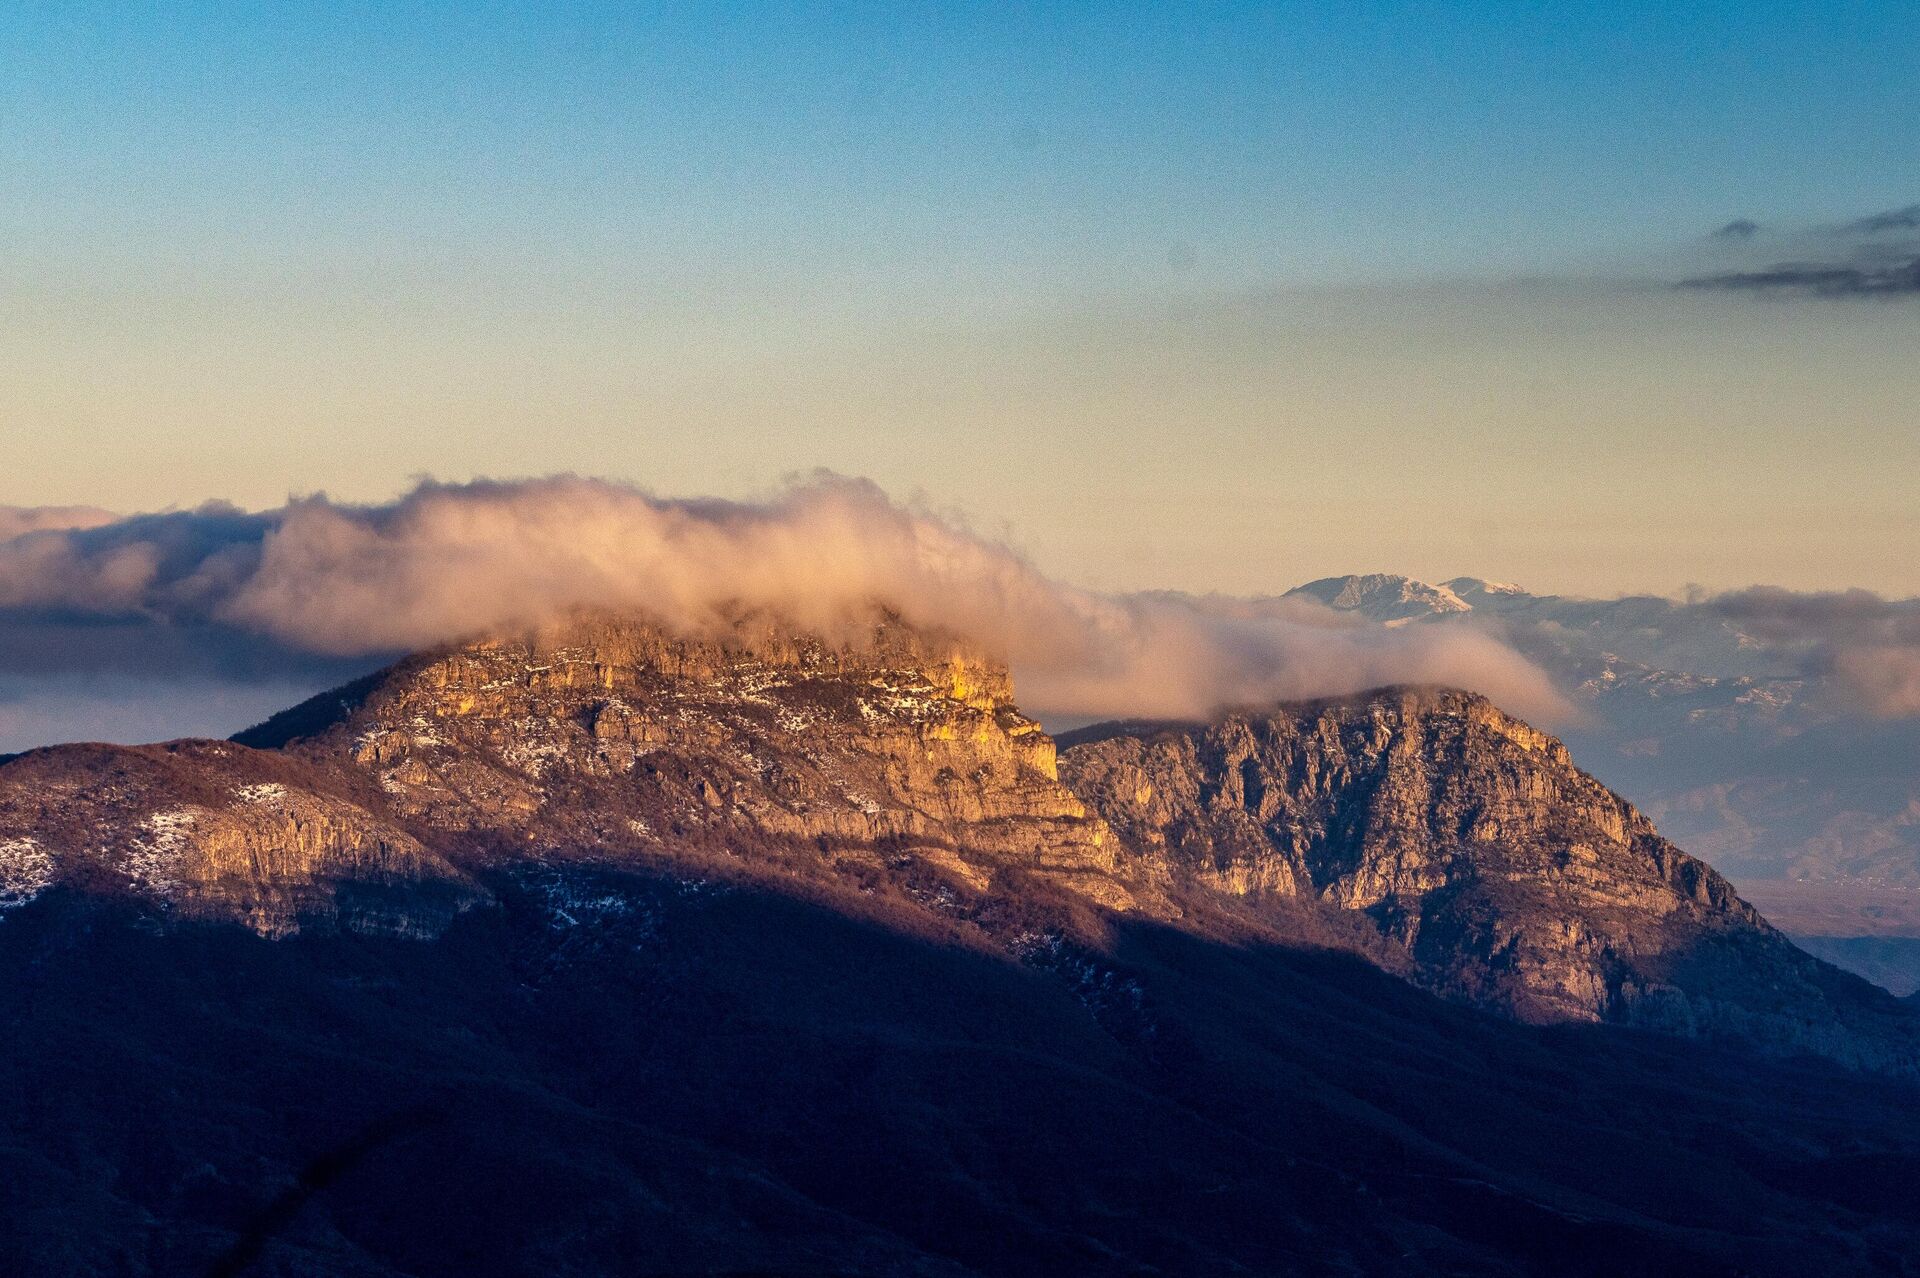
[[[15,4],[0,503],[828,464],[1123,585],[1912,591],[1914,301],[1588,284],[1920,200],[1916,50],[1910,4]],[[1490,470],[1536,501],[1436,532]]]

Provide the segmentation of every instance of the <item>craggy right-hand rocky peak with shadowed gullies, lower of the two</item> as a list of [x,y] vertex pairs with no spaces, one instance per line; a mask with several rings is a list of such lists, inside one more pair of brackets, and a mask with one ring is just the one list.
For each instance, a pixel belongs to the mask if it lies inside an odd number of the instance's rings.
[[1388,689],[1064,746],[1129,848],[1219,892],[1365,911],[1455,998],[1851,1050],[1832,969],[1482,697]]

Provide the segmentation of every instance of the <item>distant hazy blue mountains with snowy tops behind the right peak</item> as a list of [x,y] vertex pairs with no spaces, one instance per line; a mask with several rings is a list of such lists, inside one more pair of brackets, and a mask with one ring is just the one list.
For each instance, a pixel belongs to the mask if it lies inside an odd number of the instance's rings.
[[1580,760],[1736,883],[1774,900],[1793,883],[1920,888],[1920,722],[1860,714],[1818,664],[1713,606],[1377,574],[1290,593],[1382,626],[1490,629],[1588,712],[1567,729]]

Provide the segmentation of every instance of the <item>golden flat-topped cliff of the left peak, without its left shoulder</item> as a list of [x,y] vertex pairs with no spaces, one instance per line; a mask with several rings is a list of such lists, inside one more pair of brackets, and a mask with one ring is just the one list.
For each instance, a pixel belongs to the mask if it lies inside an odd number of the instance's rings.
[[576,618],[403,662],[288,745],[351,760],[444,831],[574,848],[776,837],[958,858],[981,881],[1018,860],[1123,904],[1106,825],[1060,785],[1006,668],[885,620],[829,643],[764,620],[689,639]]

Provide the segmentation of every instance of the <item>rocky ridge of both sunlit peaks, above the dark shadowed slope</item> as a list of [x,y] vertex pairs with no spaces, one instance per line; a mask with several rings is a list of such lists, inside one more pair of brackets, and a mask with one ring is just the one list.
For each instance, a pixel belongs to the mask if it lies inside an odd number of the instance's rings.
[[1920,1061],[1905,1009],[1836,982],[1486,698],[1392,687],[1062,741],[1002,664],[893,616],[851,641],[578,616],[405,658],[234,743],[33,752],[0,771],[0,846],[27,840],[36,890],[263,935],[432,936],[492,900],[490,865],[689,856],[952,917],[1031,892],[1167,921],[1292,898],[1503,1015]]

